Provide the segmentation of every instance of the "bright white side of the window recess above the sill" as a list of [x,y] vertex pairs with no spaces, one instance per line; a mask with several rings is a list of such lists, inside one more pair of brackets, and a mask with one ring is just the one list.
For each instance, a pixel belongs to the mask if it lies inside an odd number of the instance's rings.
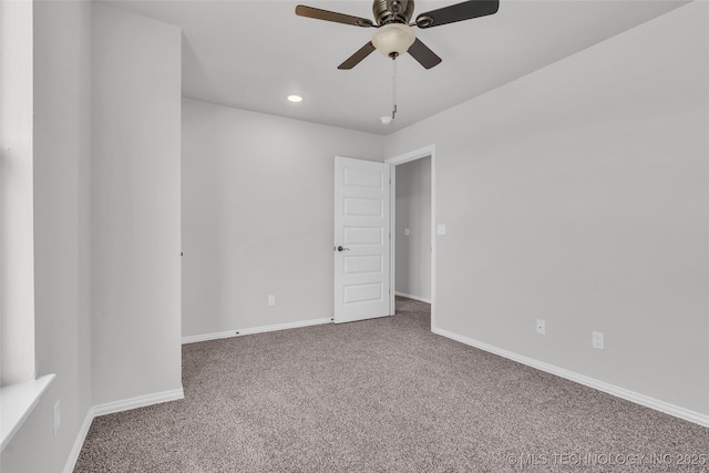
[[0,385],[35,369],[32,10],[0,3]]

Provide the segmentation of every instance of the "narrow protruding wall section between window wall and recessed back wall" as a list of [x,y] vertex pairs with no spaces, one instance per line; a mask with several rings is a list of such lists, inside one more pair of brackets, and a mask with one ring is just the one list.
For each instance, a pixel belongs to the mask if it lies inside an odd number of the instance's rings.
[[93,402],[182,389],[181,31],[93,8]]

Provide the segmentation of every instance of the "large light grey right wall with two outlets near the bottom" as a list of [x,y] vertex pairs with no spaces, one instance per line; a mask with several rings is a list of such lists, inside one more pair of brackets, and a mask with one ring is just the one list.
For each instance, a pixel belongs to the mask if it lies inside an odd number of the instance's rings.
[[709,414],[708,9],[387,138],[436,146],[440,328]]

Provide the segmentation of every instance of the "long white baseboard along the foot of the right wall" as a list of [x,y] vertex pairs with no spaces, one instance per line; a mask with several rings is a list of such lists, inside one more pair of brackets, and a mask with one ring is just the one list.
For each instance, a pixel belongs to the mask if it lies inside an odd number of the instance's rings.
[[564,368],[555,367],[554,364],[548,364],[543,361],[535,360],[534,358],[524,357],[522,354],[517,354],[512,351],[494,347],[492,345],[483,343],[482,341],[473,340],[472,338],[463,337],[461,335],[453,333],[438,327],[432,328],[431,331],[442,337],[460,341],[461,343],[469,345],[471,347],[475,347],[494,354],[499,354],[500,357],[507,358],[522,364],[526,364],[527,367],[532,367],[537,370],[577,382],[579,384],[587,385],[598,391],[606,392],[617,398],[625,399],[626,401],[635,402],[636,404],[645,405],[646,408],[655,409],[656,411],[665,412],[666,414],[674,415],[676,418],[684,419],[702,426],[709,426],[709,415],[707,414],[680,408],[679,405],[670,404],[669,402],[660,401],[659,399],[650,398],[648,395],[640,394],[638,392],[630,391],[615,384],[609,384],[605,381],[599,381],[584,374],[578,374],[574,371],[569,371]]

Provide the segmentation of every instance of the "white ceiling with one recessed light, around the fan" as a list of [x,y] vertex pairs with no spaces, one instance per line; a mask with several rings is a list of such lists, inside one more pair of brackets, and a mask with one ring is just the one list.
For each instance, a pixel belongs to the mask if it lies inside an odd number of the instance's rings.
[[[685,3],[679,0],[501,0],[491,17],[415,29],[443,62],[424,70],[373,52],[337,66],[373,29],[297,17],[298,3],[372,18],[371,1],[105,1],[183,30],[183,95],[238,109],[386,135],[514,81]],[[418,13],[458,1],[417,1]],[[298,93],[292,104],[286,95]]]

